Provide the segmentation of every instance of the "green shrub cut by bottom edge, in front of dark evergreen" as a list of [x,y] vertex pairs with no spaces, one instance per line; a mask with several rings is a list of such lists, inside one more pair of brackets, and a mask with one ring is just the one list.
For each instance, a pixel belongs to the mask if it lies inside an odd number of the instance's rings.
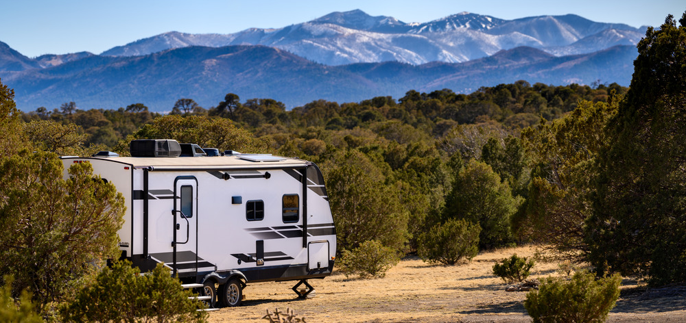
[[524,307],[536,322],[605,322],[619,297],[619,274],[595,279],[587,271],[571,280],[548,277],[538,291],[529,292]]

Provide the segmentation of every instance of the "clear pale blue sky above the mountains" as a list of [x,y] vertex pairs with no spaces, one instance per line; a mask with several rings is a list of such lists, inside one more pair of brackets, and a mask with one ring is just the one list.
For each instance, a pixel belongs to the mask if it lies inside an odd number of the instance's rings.
[[98,54],[167,31],[229,34],[250,27],[284,27],[354,9],[405,23],[466,11],[504,19],[571,13],[639,27],[659,26],[667,14],[678,20],[686,5],[683,0],[2,0],[0,8],[0,41],[36,57],[78,51]]

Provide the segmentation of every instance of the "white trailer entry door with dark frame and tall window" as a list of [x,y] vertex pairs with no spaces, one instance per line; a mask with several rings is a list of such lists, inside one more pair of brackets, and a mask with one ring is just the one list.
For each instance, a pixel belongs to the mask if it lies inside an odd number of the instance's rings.
[[174,180],[174,274],[198,272],[198,180],[179,176]]

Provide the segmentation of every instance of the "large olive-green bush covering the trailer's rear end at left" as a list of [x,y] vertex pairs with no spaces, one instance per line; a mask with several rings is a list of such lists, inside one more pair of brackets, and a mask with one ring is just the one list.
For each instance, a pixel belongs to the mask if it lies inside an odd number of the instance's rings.
[[90,163],[68,172],[64,179],[53,153],[23,149],[0,158],[0,275],[14,276],[12,295],[29,290],[43,315],[121,253],[123,196]]

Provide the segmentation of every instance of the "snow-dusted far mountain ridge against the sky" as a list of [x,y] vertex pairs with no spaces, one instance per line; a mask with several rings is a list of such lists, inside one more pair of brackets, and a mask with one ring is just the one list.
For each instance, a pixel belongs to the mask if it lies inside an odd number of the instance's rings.
[[[623,38],[606,37],[610,29]],[[573,14],[508,21],[462,12],[428,23],[404,23],[389,16],[370,16],[353,10],[333,12],[287,27],[251,28],[235,34],[173,31],[115,47],[102,55],[137,56],[187,46],[261,44],[327,65],[386,61],[425,64],[466,62],[521,46],[553,55],[592,53],[616,44],[635,45],[643,34],[641,31],[644,30],[596,23]]]

